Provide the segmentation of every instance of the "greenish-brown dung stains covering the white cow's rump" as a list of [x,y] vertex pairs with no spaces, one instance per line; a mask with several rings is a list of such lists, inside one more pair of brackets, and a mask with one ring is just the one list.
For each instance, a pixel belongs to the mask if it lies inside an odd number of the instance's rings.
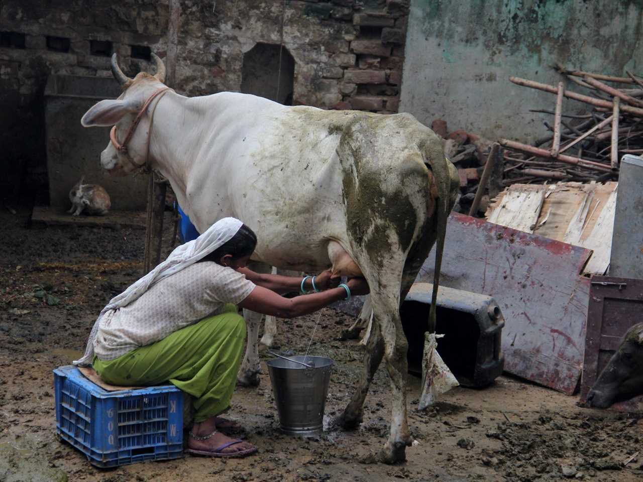
[[[385,125],[388,130],[395,127],[401,135],[394,139],[375,137],[374,133],[383,132]],[[379,267],[394,249],[392,243],[397,242],[406,252],[413,239],[428,228],[425,218],[433,215],[438,194],[437,183],[433,183],[436,175],[441,176],[442,183],[451,184],[439,141],[430,130],[417,126],[408,114],[362,114],[345,125],[338,146],[349,235],[367,249]],[[383,172],[379,157],[396,148],[401,159],[399,168]],[[433,174],[433,165],[440,163],[444,166],[437,166]]]

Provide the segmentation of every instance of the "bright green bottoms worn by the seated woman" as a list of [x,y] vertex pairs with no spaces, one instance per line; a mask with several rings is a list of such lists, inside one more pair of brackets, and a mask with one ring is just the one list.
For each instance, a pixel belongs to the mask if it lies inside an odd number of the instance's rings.
[[245,339],[243,317],[234,305],[226,305],[221,314],[117,359],[94,357],[93,367],[105,382],[114,385],[170,382],[195,398],[194,422],[203,422],[230,407]]

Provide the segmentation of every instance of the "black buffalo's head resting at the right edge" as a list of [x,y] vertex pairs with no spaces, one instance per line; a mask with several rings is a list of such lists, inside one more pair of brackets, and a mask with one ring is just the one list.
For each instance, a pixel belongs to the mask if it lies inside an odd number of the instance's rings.
[[643,393],[643,323],[629,328],[587,395],[590,407],[607,408]]

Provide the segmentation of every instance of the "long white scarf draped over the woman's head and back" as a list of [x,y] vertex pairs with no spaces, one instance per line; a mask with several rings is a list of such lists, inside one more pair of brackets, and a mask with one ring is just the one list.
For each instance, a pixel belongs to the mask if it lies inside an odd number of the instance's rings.
[[143,293],[149,290],[154,283],[158,283],[158,281],[163,280],[163,278],[167,278],[168,276],[185,269],[199,261],[201,258],[212,253],[225,242],[230,241],[232,237],[237,234],[237,231],[239,231],[239,228],[242,225],[243,223],[239,219],[235,218],[224,218],[215,222],[207,231],[205,231],[205,233],[195,240],[177,246],[176,249],[170,253],[170,256],[167,257],[167,260],[152,269],[152,271],[147,273],[140,280],[136,281],[136,283],[131,285],[121,294],[110,299],[107,306],[103,308],[100,315],[98,315],[96,323],[94,323],[94,327],[91,329],[89,340],[87,340],[85,354],[80,360],[74,361],[73,364],[80,366],[91,365],[91,362],[94,359],[96,332],[98,332],[100,322],[106,312],[109,310],[117,310],[118,308],[129,305],[129,303],[132,303],[132,301],[135,301]]

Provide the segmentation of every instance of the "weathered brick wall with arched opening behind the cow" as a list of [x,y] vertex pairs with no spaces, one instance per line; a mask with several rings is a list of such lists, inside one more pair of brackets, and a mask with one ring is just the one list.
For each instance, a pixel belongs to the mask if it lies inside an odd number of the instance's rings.
[[[180,0],[176,89],[239,91],[244,53],[283,39],[294,58],[293,104],[397,112],[408,3]],[[126,74],[149,69],[146,48],[165,57],[168,10],[168,0],[0,4],[0,183],[44,182],[47,76],[111,76],[112,52]]]

